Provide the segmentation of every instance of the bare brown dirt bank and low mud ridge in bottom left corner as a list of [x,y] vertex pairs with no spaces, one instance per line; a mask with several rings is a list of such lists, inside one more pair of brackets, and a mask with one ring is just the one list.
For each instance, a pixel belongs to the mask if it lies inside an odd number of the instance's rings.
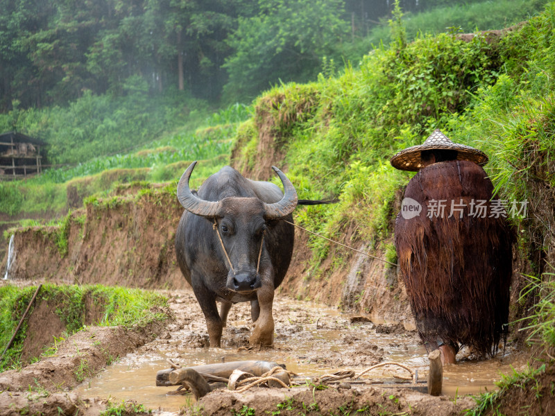
[[[6,281],[1,284],[12,285]],[[103,305],[89,301],[87,297],[84,312],[87,324],[97,322],[104,309]],[[112,404],[106,397],[83,399],[71,389],[121,356],[163,335],[173,322],[171,310],[154,307],[153,313],[162,313],[166,318],[130,326],[85,326],[68,338],[66,324],[57,313],[67,307],[60,304],[59,297],[37,297],[24,325],[23,367],[0,373],[0,415],[99,415],[114,406],[119,407],[120,415],[128,414],[126,409],[134,415],[131,410],[141,408],[133,401]],[[53,336],[56,343],[51,343]],[[30,357],[40,361],[29,364]]]

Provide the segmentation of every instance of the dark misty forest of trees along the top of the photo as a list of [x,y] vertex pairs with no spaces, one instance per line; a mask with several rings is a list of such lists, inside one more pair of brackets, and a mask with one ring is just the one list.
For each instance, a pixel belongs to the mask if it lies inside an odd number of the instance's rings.
[[[420,12],[476,1],[402,0],[400,6]],[[466,31],[498,26],[537,10],[537,2],[526,3],[480,21],[461,13],[452,24]],[[14,100],[22,108],[66,105],[87,91],[121,96],[134,88],[246,103],[278,80],[314,80],[324,58],[341,66],[358,62],[384,37],[371,31],[390,15],[393,1],[2,0],[0,8],[5,112]],[[443,31],[442,23],[419,29]]]

